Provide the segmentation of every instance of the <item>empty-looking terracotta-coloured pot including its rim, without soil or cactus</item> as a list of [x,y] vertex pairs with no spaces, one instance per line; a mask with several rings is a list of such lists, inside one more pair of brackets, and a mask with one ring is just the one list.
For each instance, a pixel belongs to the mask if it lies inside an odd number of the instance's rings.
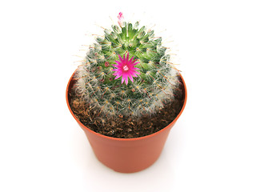
[[133,173],[151,166],[160,156],[170,129],[174,126],[186,106],[186,84],[182,76],[182,83],[184,85],[182,110],[174,121],[164,129],[141,138],[111,138],[98,134],[79,122],[78,118],[74,116],[73,111],[70,109],[69,103],[70,98],[68,92],[74,85],[73,76],[74,74],[71,76],[66,88],[66,103],[70,113],[86,133],[90,146],[93,148],[98,160],[111,169],[122,173]]

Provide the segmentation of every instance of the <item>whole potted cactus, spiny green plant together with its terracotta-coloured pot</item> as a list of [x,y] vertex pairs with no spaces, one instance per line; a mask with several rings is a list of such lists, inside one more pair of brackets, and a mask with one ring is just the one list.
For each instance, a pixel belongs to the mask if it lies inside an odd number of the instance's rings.
[[120,13],[104,33],[71,76],[66,101],[99,161],[136,172],[161,154],[186,105],[186,85],[154,30]]

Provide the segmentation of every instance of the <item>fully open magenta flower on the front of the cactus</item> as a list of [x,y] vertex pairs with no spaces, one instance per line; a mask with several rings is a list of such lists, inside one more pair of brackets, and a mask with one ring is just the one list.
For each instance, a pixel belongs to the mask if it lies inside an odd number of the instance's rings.
[[124,54],[123,58],[118,54],[118,57],[120,61],[115,61],[117,65],[113,65],[117,69],[114,69],[116,71],[113,75],[116,76],[114,79],[122,77],[122,83],[126,80],[126,85],[128,84],[128,78],[130,78],[131,82],[134,82],[133,77],[138,77],[137,74],[140,74],[137,70],[138,68],[134,67],[139,62],[136,62],[136,59],[134,57],[130,58],[129,60],[129,52],[127,56]]

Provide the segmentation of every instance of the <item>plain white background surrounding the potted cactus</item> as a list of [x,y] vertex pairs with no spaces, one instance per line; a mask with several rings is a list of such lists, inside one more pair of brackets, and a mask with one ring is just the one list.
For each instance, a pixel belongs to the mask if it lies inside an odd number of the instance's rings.
[[[170,31],[188,89],[162,156],[135,174],[98,162],[65,98],[85,34],[119,11]],[[255,20],[246,0],[1,1],[0,191],[256,191]]]

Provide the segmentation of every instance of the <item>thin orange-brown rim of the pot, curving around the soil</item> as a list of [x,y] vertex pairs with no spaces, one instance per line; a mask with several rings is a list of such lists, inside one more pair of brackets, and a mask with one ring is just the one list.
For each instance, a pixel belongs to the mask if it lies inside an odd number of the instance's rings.
[[95,134],[97,135],[98,137],[101,137],[101,138],[106,138],[106,139],[110,139],[110,140],[115,140],[115,141],[138,141],[138,140],[142,140],[142,139],[146,139],[146,138],[151,138],[151,137],[154,137],[154,135],[157,135],[157,134],[160,134],[162,131],[168,129],[169,126],[172,126],[174,125],[175,122],[177,122],[178,118],[181,116],[183,110],[185,109],[185,106],[186,106],[186,99],[187,99],[187,90],[186,90],[186,83],[182,77],[182,74],[179,73],[180,77],[182,78],[182,84],[184,86],[184,102],[183,102],[183,106],[182,106],[182,109],[180,110],[180,112],[178,113],[178,115],[176,116],[176,118],[174,118],[174,121],[172,121],[168,126],[162,128],[162,130],[158,130],[157,132],[155,132],[154,134],[149,134],[149,135],[146,135],[146,136],[143,136],[143,137],[139,137],[139,138],[113,138],[113,137],[110,137],[110,136],[106,136],[106,135],[103,135],[103,134],[98,134],[96,133],[94,130],[90,130],[88,127],[86,127],[85,125],[82,124],[82,122],[80,122],[78,120],[78,118],[75,117],[73,111],[71,110],[71,107],[70,107],[70,103],[69,103],[69,99],[68,99],[68,92],[69,92],[69,87],[70,87],[70,82],[71,80],[73,79],[74,77],[74,74],[75,74],[76,70],[74,71],[74,73],[72,74],[72,76],[70,77],[70,80],[66,86],[66,104],[70,110],[70,113],[72,114],[72,116],[74,117],[74,119],[78,122],[78,124],[80,126],[82,126],[84,129],[88,130],[91,134]]

